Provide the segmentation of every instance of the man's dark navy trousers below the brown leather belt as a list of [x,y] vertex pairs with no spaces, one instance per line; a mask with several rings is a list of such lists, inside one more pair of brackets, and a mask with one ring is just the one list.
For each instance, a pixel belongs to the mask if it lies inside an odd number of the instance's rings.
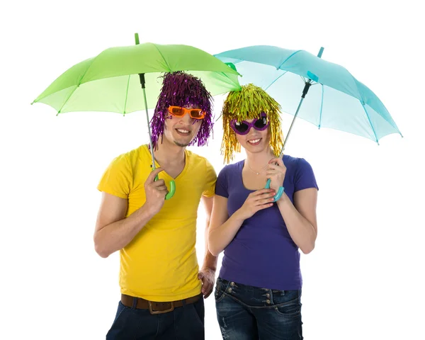
[[119,302],[106,340],[203,340],[204,315],[203,297],[163,314],[150,314],[149,310],[125,307]]

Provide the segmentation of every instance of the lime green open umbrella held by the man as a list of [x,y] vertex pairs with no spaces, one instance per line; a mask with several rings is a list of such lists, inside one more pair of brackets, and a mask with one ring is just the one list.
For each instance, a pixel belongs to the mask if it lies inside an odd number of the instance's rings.
[[[111,47],[79,62],[53,81],[33,103],[45,103],[57,114],[75,111],[132,113],[145,108],[152,154],[148,108],[154,108],[166,72],[183,71],[199,77],[212,96],[241,89],[239,73],[203,50],[188,45],[151,42]],[[146,91],[145,91],[146,87]],[[142,88],[142,91],[141,91]],[[142,95],[143,94],[143,95]],[[174,181],[166,199],[174,195]]]

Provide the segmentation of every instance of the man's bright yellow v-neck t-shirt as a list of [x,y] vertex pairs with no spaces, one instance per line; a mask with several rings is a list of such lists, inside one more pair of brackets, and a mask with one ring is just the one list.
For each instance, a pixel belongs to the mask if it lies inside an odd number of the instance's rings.
[[[202,195],[211,197],[217,175],[204,157],[186,150],[186,164],[174,179],[176,193],[162,209],[120,250],[121,293],[152,301],[186,299],[200,293],[196,256],[196,217]],[[113,159],[98,190],[128,199],[125,217],[146,200],[145,181],[152,156],[147,145]],[[159,164],[156,165],[159,167]],[[162,171],[169,187],[171,176]]]

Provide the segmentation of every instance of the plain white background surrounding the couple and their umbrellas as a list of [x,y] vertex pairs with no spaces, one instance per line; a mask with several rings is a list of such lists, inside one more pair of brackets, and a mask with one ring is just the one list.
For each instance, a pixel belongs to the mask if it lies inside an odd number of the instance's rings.
[[[104,339],[120,296],[118,254],[93,232],[98,180],[113,157],[147,142],[143,112],[55,116],[30,103],[62,72],[140,42],[212,54],[277,45],[346,67],[385,104],[404,137],[380,146],[297,120],[285,149],[319,184],[319,235],[302,256],[305,339],[425,339],[424,51],[416,1],[12,1],[0,10],[0,339]],[[222,98],[215,104],[216,117]],[[284,131],[291,116],[285,115]],[[222,168],[221,120],[210,147]],[[240,154],[237,160],[242,159]],[[203,222],[198,220],[198,257]],[[220,257],[221,261],[221,257]],[[207,339],[221,339],[213,297]]]

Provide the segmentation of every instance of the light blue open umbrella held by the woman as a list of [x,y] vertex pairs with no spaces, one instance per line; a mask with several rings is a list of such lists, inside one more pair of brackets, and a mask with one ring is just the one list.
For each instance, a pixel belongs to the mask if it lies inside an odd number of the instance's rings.
[[259,45],[215,57],[237,68],[242,74],[241,85],[260,86],[280,103],[283,111],[294,115],[279,157],[297,116],[319,128],[350,132],[378,145],[386,135],[402,135],[378,96],[344,67],[322,60],[322,52],[323,47],[315,56],[304,50]]

